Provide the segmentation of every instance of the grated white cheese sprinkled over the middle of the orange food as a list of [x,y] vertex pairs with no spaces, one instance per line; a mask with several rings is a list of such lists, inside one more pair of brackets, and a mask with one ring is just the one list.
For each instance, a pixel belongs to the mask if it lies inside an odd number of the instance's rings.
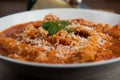
[[[46,16],[45,21],[49,20],[59,20],[56,17],[51,18],[52,15]],[[64,59],[66,56],[70,56],[71,54],[74,54],[74,52],[79,52],[82,49],[93,50],[96,48],[96,45],[103,46],[105,43],[107,43],[107,40],[103,39],[98,32],[95,31],[95,28],[84,26],[81,24],[74,24],[65,26],[65,28],[76,30],[79,28],[79,31],[82,31],[83,33],[88,32],[88,37],[80,36],[79,34],[76,34],[76,32],[72,33],[66,33],[65,30],[61,30],[57,32],[57,34],[54,34],[53,36],[48,35],[48,31],[44,30],[42,26],[39,26],[37,29],[34,27],[34,25],[30,24],[26,27],[26,29],[21,33],[17,35],[17,41],[18,44],[20,43],[26,43],[28,45],[34,46],[36,48],[43,48],[43,54],[48,53],[51,50],[55,50],[55,57]],[[60,33],[58,35],[58,33]],[[95,36],[98,36],[97,39]],[[91,39],[92,38],[92,39]],[[95,38],[95,39],[94,39]],[[65,40],[68,39],[68,40]],[[69,44],[65,44],[69,42]],[[90,47],[94,46],[94,47]],[[26,48],[28,49],[28,48]],[[71,53],[71,54],[70,54]],[[17,55],[15,55],[17,57]]]

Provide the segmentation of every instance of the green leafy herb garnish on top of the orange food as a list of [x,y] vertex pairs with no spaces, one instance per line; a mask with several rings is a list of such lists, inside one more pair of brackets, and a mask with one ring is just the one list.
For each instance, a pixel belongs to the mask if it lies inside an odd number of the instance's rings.
[[61,29],[64,29],[68,33],[71,33],[71,32],[73,32],[73,30],[65,28],[65,26],[68,26],[70,24],[71,23],[68,21],[48,21],[43,24],[43,29],[47,30],[50,35],[57,33]]

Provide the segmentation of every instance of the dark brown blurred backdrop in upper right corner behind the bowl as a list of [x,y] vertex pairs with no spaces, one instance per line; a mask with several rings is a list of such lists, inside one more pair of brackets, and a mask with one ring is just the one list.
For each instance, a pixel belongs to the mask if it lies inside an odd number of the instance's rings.
[[83,0],[92,9],[112,11],[120,14],[120,0]]

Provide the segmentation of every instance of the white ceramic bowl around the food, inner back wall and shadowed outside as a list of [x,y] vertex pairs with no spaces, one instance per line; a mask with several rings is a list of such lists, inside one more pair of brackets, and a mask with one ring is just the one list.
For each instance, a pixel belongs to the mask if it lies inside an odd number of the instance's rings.
[[[114,13],[86,9],[43,9],[0,18],[0,31],[16,24],[42,20],[48,13],[55,14],[61,19],[84,18],[96,23],[120,24],[120,15]],[[120,58],[82,64],[41,64],[18,61],[0,55],[0,63],[24,75],[53,80],[90,79],[120,69]]]

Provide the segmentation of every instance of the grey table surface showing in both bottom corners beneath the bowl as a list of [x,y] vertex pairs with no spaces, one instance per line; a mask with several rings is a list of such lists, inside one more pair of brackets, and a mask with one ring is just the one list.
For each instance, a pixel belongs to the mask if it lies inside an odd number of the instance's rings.
[[[6,66],[0,64],[0,80],[39,80],[39,79],[17,75],[15,72],[6,68]],[[87,80],[120,80],[120,70],[118,70],[118,72],[111,72],[105,76]]]

